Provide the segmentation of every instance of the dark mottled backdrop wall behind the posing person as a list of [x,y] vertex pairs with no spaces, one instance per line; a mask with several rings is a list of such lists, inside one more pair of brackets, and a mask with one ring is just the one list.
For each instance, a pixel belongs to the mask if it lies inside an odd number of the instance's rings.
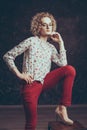
[[[68,63],[76,68],[72,103],[87,103],[87,4],[86,0],[3,0],[0,1],[0,105],[21,104],[19,80],[9,71],[3,55],[31,36],[30,21],[37,12],[52,13],[67,50]],[[16,58],[21,70],[22,55]],[[52,69],[56,65],[52,64]],[[41,94],[39,104],[56,104],[61,83]]]

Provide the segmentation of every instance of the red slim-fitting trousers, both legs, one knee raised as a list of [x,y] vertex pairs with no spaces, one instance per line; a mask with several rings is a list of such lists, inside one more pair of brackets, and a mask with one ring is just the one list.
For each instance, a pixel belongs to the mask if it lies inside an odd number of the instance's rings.
[[35,130],[36,128],[37,104],[41,92],[55,87],[61,79],[63,79],[63,89],[60,104],[65,106],[71,105],[75,75],[75,69],[67,65],[49,72],[44,79],[43,85],[38,81],[34,81],[32,84],[22,86],[22,98],[26,118],[25,130]]

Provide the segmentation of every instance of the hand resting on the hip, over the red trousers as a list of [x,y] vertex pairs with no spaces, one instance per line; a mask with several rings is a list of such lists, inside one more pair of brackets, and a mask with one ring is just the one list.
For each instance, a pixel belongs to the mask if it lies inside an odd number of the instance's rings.
[[27,73],[21,73],[19,78],[26,81],[28,84],[31,84],[34,81],[33,77]]

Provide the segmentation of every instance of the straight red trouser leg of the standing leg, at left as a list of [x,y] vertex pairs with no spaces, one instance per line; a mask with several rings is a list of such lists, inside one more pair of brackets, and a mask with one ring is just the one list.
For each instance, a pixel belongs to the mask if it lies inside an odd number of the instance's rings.
[[33,82],[27,84],[22,90],[22,98],[25,112],[25,130],[35,130],[37,124],[37,103],[42,91],[42,84]]

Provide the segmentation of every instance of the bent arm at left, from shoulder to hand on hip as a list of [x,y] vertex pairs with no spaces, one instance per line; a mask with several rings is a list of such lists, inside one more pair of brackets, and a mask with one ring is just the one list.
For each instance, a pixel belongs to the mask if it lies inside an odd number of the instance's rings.
[[13,49],[11,49],[10,51],[8,51],[4,56],[3,59],[6,62],[7,66],[9,67],[9,69],[20,79],[25,80],[26,82],[29,82],[30,79],[30,75],[27,75],[26,73],[21,73],[16,65],[15,65],[15,58],[18,55],[21,55],[24,51],[26,51],[27,49],[29,49],[29,46],[31,44],[31,39],[26,39],[23,42],[21,42],[19,45],[15,46]]

